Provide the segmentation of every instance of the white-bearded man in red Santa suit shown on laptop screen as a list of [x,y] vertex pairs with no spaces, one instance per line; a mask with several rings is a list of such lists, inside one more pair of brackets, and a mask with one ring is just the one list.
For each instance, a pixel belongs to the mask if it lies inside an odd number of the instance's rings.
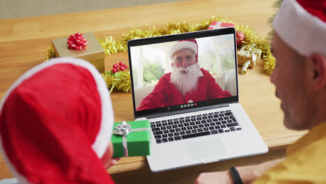
[[137,111],[231,96],[208,70],[200,68],[195,39],[180,40],[170,50],[172,72],[163,75]]

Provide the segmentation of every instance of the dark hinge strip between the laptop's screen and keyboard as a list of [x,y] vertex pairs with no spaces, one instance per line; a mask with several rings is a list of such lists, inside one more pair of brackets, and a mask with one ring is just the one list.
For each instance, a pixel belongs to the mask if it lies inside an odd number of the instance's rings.
[[150,118],[158,118],[162,116],[171,116],[171,115],[176,115],[176,114],[183,114],[183,113],[188,113],[188,112],[198,112],[198,111],[203,111],[203,110],[208,110],[208,109],[216,109],[216,108],[221,108],[221,107],[229,107],[230,105],[228,104],[219,104],[219,105],[210,105],[210,106],[205,106],[205,107],[197,107],[194,109],[183,109],[183,110],[178,110],[178,111],[173,111],[173,112],[163,112],[160,114],[150,114],[146,116],[147,119]]

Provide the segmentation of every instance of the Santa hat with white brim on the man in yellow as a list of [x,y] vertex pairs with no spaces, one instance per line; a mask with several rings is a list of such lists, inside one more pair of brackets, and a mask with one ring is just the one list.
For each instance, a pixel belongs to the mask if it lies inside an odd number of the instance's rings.
[[326,56],[326,1],[284,0],[273,26],[290,47],[304,56]]

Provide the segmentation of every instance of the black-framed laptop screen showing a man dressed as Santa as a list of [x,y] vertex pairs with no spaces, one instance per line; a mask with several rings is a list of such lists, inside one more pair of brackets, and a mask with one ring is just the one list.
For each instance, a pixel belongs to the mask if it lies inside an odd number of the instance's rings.
[[235,29],[130,40],[135,116],[238,101]]

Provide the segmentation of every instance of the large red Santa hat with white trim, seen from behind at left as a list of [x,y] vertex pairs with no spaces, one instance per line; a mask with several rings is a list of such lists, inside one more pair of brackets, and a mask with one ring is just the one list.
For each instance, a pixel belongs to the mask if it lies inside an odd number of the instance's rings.
[[51,59],[1,100],[1,154],[19,183],[114,183],[100,160],[113,123],[98,70],[81,59]]

